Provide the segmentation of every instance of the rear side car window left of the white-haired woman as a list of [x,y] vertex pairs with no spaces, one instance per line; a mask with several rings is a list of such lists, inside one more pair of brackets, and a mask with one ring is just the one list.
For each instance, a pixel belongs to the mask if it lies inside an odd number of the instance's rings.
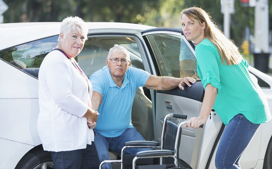
[[58,37],[52,36],[3,50],[0,52],[0,58],[37,77],[40,64],[44,57],[57,46]]

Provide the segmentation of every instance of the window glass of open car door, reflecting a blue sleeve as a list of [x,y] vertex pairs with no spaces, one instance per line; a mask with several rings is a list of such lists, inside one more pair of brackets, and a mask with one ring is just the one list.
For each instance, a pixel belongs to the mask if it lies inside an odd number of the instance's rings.
[[152,34],[146,38],[155,56],[160,76],[193,77],[199,80],[196,57],[181,36]]

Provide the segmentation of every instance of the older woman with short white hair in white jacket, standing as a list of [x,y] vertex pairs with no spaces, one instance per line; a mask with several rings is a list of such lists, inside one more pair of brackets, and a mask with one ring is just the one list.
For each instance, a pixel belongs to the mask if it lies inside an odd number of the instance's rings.
[[[39,70],[37,128],[43,148],[51,152],[57,169],[99,167],[92,130],[99,114],[92,109],[92,84],[74,59],[83,49],[87,34],[81,18],[65,18],[57,47],[44,58]],[[93,122],[92,127],[87,120]]]

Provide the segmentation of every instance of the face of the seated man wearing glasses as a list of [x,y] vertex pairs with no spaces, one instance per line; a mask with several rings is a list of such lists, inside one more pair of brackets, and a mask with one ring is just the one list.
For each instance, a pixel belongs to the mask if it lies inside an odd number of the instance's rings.
[[[112,63],[110,59],[119,60],[125,59],[128,60],[128,64],[122,64],[121,61],[118,61],[118,63]],[[129,61],[129,58],[127,58],[127,55],[124,52],[120,52],[114,49],[111,53],[110,59],[106,58],[106,63],[111,72],[112,77],[124,78],[125,73],[128,70],[128,67],[131,63],[131,61]]]

